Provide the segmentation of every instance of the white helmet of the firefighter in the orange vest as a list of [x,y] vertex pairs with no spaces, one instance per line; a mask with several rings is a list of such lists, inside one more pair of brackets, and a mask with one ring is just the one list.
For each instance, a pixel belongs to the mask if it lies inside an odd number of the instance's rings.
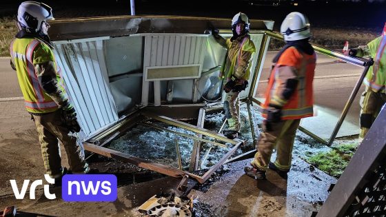
[[281,23],[280,32],[285,41],[297,41],[311,36],[309,21],[304,14],[291,12]]

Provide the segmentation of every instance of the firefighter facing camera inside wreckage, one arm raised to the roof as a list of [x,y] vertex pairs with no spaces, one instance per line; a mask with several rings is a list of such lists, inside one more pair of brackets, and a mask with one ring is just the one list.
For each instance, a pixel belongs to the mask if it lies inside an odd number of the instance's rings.
[[246,14],[238,12],[232,19],[230,39],[223,39],[216,31],[214,38],[227,49],[225,61],[220,70],[220,77],[226,79],[224,110],[228,128],[223,133],[227,138],[237,138],[240,133],[240,102],[238,94],[245,90],[250,79],[252,54],[256,52],[253,41],[248,34],[250,22]]

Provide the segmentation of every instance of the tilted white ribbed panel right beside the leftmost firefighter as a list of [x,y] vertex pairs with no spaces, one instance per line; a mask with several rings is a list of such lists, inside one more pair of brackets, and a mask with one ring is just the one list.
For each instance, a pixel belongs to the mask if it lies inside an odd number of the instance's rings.
[[55,56],[85,136],[118,120],[108,82],[103,40],[57,42]]

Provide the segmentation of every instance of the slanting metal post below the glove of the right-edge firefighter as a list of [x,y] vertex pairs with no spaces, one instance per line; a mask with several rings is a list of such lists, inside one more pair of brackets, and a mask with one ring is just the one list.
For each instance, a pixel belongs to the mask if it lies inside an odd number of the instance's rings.
[[349,96],[349,99],[347,100],[345,107],[343,108],[343,111],[342,111],[341,116],[339,117],[338,123],[336,123],[331,137],[329,137],[329,141],[328,141],[327,146],[332,145],[332,142],[334,141],[336,134],[338,134],[338,131],[341,128],[341,125],[342,125],[343,121],[345,120],[347,113],[349,112],[349,108],[351,107],[352,102],[354,101],[355,96],[359,91],[360,85],[362,85],[363,79],[365,79],[367,71],[369,70],[370,66],[373,65],[373,63],[374,63],[373,59],[370,59],[370,61],[367,62],[367,64],[365,65],[365,69],[363,70],[362,74],[360,75],[360,78],[358,79],[358,81],[356,81],[356,85],[355,85],[354,89],[352,90],[351,95]]

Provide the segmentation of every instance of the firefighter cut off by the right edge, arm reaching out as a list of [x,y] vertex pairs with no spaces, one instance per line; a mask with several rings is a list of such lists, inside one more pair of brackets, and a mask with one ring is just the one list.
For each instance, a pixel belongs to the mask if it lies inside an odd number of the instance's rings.
[[374,59],[374,65],[369,68],[363,83],[365,91],[360,97],[360,133],[362,141],[382,106],[386,103],[386,24],[380,37],[349,50],[350,56],[369,56]]

